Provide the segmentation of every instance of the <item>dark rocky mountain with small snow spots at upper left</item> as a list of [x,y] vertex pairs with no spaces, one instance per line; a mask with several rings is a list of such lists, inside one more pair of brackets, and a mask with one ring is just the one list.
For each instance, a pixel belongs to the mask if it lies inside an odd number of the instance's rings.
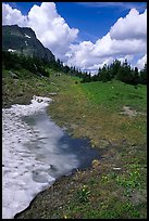
[[52,52],[45,48],[29,27],[2,26],[2,50],[38,56],[48,62],[54,60]]

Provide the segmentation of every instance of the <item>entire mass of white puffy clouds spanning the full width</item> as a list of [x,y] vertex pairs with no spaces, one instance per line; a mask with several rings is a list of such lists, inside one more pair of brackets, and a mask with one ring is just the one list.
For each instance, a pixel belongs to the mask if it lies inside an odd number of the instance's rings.
[[[65,20],[58,14],[55,3],[42,2],[34,5],[26,16],[21,11],[2,4],[2,24],[32,27],[42,44],[64,64],[84,70],[95,72],[113,60],[127,58],[141,66],[142,54],[147,53],[147,10],[139,13],[132,9],[124,18],[119,18],[109,32],[95,43],[77,42],[78,29],[70,28]],[[134,65],[135,65],[134,64]]]

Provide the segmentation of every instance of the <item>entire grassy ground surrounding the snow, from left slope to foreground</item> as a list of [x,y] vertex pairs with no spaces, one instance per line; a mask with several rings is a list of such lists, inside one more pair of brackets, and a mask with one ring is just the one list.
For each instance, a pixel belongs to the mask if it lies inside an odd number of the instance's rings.
[[89,138],[102,156],[92,168],[62,178],[40,193],[17,218],[147,218],[146,86],[80,83],[53,72],[50,77],[32,78],[28,73],[12,79],[3,72],[2,90],[5,104],[57,92],[50,116],[72,135]]

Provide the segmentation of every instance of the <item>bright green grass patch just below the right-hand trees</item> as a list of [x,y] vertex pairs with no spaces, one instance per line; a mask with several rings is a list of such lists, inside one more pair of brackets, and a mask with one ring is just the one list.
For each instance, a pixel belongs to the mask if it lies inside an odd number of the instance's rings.
[[82,89],[92,105],[104,105],[111,110],[120,110],[128,105],[136,110],[147,109],[147,87],[131,86],[121,81],[83,83]]

